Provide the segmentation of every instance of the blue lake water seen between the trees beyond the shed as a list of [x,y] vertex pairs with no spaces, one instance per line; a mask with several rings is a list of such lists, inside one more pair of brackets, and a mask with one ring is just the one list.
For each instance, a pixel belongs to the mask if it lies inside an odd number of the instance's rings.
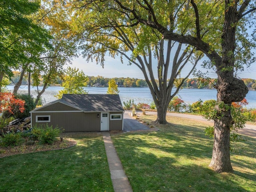
[[[9,90],[13,90],[14,86],[7,86]],[[39,89],[42,87],[39,87]],[[85,87],[86,91],[89,94],[106,94],[108,88],[107,87]],[[36,87],[31,87],[31,94],[36,96]],[[42,94],[43,101],[45,103],[52,102],[57,98],[54,95],[58,94],[58,91],[62,90],[62,87],[59,86],[51,86],[46,89],[44,94]],[[126,102],[130,99],[134,99],[134,103],[138,104],[147,103],[150,104],[153,102],[152,96],[150,94],[149,88],[127,88],[127,87],[118,87],[120,99],[123,102]],[[19,89],[20,93],[27,93],[28,86],[21,86]],[[210,99],[216,100],[217,91],[210,89],[182,89],[178,93],[178,96],[181,97],[182,100],[186,104],[192,104],[198,100],[206,101]],[[246,108],[256,108],[256,91],[249,91],[246,95],[246,100],[248,101],[248,105]]]

